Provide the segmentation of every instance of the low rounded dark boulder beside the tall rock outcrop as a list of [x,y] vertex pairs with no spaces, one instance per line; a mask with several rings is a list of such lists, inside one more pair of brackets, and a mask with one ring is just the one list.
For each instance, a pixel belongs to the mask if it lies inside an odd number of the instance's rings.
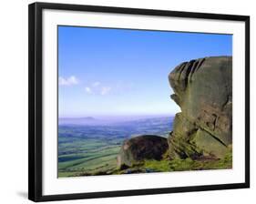
[[145,159],[162,158],[168,150],[167,138],[142,135],[124,142],[118,154],[118,168],[132,167]]

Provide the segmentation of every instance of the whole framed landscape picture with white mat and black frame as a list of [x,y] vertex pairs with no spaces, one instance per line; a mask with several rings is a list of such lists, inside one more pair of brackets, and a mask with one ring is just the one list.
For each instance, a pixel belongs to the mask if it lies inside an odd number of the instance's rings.
[[249,16],[29,5],[29,199],[249,188],[249,137]]

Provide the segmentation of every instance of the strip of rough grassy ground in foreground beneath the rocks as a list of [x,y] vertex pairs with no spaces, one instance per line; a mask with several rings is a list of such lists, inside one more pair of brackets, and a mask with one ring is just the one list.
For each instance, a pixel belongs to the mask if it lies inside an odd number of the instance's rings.
[[[115,157],[116,158],[116,157]],[[60,174],[62,177],[68,176],[91,176],[91,175],[111,175],[111,174],[131,174],[131,173],[148,173],[148,172],[171,172],[171,171],[186,171],[186,170],[206,170],[206,169],[222,169],[232,168],[232,154],[231,151],[222,159],[200,159],[192,160],[186,159],[174,159],[169,160],[164,158],[160,161],[146,160],[141,162],[137,166],[120,170],[116,168],[116,159],[110,158],[105,160],[105,166],[99,166],[93,170],[83,169],[76,174],[70,172],[63,172]],[[96,162],[97,163],[97,162]],[[92,167],[92,166],[91,166]],[[96,166],[95,166],[96,167]]]

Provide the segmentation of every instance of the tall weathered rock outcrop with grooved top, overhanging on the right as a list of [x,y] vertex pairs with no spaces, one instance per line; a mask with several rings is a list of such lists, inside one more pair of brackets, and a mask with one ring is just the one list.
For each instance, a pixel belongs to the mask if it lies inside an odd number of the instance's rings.
[[206,57],[169,74],[181,108],[169,136],[171,158],[224,157],[232,143],[232,58]]

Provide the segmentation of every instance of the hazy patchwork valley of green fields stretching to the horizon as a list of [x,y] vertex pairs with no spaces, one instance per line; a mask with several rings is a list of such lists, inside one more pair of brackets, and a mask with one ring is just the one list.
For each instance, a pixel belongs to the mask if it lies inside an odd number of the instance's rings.
[[173,117],[156,117],[107,125],[59,125],[58,177],[114,172],[118,151],[127,138],[143,134],[168,137]]

